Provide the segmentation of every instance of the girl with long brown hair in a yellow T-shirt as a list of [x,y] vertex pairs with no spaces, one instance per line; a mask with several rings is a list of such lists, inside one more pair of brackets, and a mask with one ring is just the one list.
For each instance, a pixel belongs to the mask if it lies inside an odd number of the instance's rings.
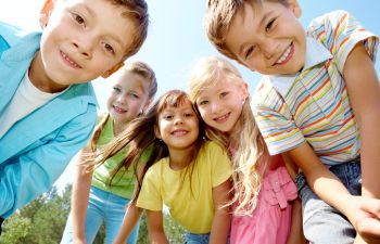
[[[224,206],[229,201],[230,160],[221,147],[204,141],[188,95],[179,90],[163,94],[104,152],[105,158],[130,141],[126,164],[138,160],[145,150],[152,151],[139,171],[132,200],[138,208],[147,210],[150,242],[168,243],[163,230],[165,204],[170,216],[188,231],[185,243],[227,243],[230,215]],[[136,216],[136,210],[131,206],[126,215],[135,211]],[[131,219],[125,218],[121,236],[128,235]]]

